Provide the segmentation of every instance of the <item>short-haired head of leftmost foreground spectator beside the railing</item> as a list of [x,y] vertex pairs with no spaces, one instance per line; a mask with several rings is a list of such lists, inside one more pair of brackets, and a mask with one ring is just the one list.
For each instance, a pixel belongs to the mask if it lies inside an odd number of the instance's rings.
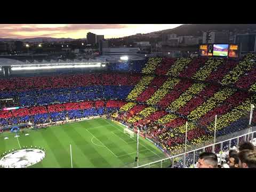
[[198,168],[217,168],[218,167],[218,157],[214,153],[204,152],[200,154],[198,163]]

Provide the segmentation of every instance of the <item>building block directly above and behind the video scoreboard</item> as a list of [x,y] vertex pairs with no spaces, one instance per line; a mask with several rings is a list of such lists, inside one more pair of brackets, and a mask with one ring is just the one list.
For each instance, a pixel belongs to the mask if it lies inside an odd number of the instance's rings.
[[228,31],[208,31],[203,33],[203,43],[229,43]]

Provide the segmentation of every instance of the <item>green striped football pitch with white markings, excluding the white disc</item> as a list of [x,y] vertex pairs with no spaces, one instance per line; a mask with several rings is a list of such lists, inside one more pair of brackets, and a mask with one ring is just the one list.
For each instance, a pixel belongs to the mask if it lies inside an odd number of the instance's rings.
[[[47,129],[0,135],[0,153],[23,146],[43,147],[45,158],[30,167],[71,167],[71,155],[74,168],[79,167],[133,167],[137,156],[137,140],[134,134],[130,138],[124,134],[124,126],[108,119],[91,119],[83,122],[51,126]],[[4,139],[8,137],[9,139]],[[153,143],[140,137],[139,162],[149,163],[166,158]],[[170,161],[164,162],[165,166]],[[159,167],[159,164],[153,167]],[[163,166],[163,165],[161,165]]]

